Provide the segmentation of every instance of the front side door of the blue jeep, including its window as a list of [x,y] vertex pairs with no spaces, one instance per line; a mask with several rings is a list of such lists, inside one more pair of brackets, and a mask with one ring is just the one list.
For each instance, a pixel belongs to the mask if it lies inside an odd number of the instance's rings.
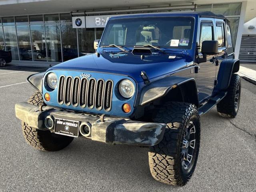
[[[205,40],[214,40],[214,19],[200,20],[198,42],[202,47],[202,42]],[[199,50],[199,57],[202,58],[201,48]],[[196,84],[198,88],[199,102],[203,102],[212,95],[214,88],[214,81],[216,80],[216,66],[210,59],[213,55],[207,55],[206,62],[197,64],[200,70],[196,74]]]

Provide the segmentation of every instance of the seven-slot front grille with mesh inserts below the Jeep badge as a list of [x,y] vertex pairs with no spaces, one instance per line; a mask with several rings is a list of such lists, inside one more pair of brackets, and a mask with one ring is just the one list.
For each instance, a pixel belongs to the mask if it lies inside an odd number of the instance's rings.
[[113,81],[60,76],[58,102],[66,106],[96,108],[110,111],[112,106]]

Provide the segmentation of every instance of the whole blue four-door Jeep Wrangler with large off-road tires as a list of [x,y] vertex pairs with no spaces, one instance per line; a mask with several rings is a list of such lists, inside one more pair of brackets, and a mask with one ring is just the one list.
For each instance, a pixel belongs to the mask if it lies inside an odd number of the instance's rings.
[[149,148],[152,176],[182,186],[194,172],[200,116],[234,118],[241,82],[228,20],[212,12],[112,17],[96,54],[28,77],[16,104],[26,141],[56,151],[75,137]]

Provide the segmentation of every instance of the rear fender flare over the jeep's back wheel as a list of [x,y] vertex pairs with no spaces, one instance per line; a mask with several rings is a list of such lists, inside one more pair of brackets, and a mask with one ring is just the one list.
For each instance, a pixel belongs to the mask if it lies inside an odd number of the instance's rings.
[[225,90],[228,88],[232,73],[236,73],[240,68],[239,59],[226,59],[220,63],[220,68],[218,72],[218,84],[216,86],[217,90]]

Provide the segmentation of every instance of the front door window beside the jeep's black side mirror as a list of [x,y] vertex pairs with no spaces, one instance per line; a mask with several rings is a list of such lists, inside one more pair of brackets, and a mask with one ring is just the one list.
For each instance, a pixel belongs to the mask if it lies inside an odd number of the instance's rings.
[[[212,22],[201,22],[200,26],[200,47],[202,47],[203,41],[211,41],[214,40],[214,34],[213,34],[213,24]],[[201,48],[200,48],[201,52]]]

